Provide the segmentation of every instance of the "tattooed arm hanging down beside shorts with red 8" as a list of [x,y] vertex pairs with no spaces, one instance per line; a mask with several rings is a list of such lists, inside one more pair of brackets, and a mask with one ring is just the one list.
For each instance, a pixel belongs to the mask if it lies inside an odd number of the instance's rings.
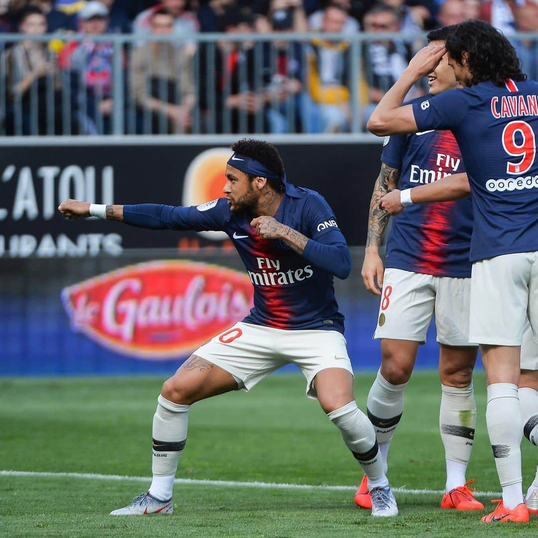
[[385,162],[381,163],[381,170],[374,185],[372,200],[370,201],[368,236],[366,238],[363,268],[360,272],[364,286],[374,295],[381,295],[381,288],[383,288],[383,261],[379,256],[379,245],[383,243],[383,236],[390,219],[390,215],[380,208],[379,203],[383,196],[398,186],[399,179],[399,168],[392,168]]

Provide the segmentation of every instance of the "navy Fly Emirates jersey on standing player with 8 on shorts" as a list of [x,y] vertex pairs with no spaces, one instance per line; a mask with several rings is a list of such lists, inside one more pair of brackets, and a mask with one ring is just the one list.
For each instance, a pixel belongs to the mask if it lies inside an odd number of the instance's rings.
[[[450,131],[386,137],[381,161],[401,170],[401,190],[465,172],[462,154]],[[409,206],[393,219],[386,266],[438,277],[468,278],[471,232],[470,198]]]

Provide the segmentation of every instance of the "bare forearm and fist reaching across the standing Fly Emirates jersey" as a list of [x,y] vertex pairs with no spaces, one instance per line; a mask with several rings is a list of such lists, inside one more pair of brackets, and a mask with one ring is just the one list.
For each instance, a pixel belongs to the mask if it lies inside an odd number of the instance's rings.
[[[447,175],[444,178],[419,185],[408,189],[410,203],[429,203],[429,202],[450,202],[452,200],[461,200],[471,194],[469,178],[467,174]],[[390,215],[398,215],[405,206],[402,204],[402,194],[400,190],[394,190],[388,193],[379,201],[379,207],[383,208]]]

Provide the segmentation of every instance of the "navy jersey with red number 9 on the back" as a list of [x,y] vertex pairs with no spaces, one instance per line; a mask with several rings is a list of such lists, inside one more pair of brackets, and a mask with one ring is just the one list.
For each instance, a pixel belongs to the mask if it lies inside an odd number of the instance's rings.
[[471,261],[538,250],[538,83],[480,82],[413,104],[417,128],[449,129],[469,175]]

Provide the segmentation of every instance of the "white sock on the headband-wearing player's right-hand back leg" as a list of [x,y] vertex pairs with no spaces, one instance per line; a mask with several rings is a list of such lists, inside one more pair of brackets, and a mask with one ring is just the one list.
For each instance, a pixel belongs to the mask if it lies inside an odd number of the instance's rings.
[[363,468],[370,489],[388,485],[376,433],[366,415],[357,407],[357,403],[349,402],[327,416],[338,427],[344,443]]

